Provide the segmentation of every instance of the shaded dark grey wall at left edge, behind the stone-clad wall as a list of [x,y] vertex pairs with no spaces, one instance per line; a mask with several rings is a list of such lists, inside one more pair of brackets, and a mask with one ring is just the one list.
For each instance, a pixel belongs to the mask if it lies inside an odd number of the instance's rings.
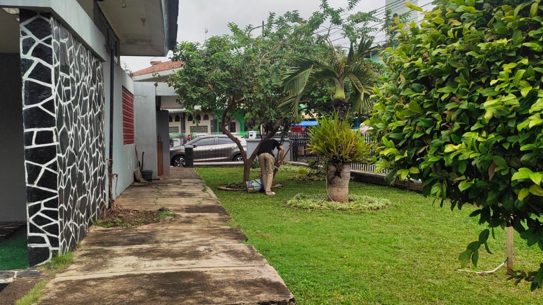
[[27,219],[24,178],[21,61],[0,53],[0,222]]

